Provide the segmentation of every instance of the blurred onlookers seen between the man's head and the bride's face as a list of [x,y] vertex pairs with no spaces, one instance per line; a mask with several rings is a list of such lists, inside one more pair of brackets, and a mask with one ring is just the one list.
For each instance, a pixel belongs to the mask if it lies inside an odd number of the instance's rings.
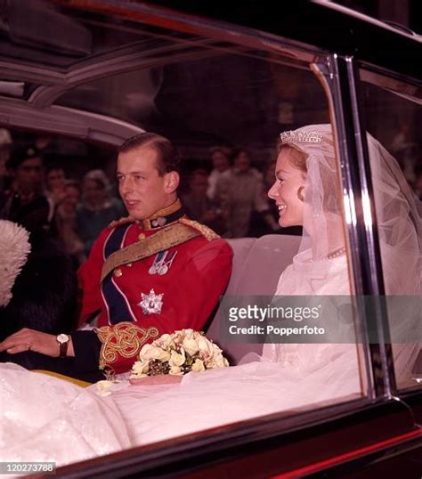
[[210,151],[213,169],[196,169],[189,191],[182,197],[188,215],[225,238],[261,236],[280,231],[278,211],[266,192],[274,181],[272,163],[263,175],[251,164],[247,150],[215,147]]

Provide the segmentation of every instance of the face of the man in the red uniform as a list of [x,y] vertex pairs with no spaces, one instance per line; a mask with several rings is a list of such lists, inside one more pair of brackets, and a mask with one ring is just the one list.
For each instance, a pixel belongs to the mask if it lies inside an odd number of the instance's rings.
[[148,146],[118,155],[118,191],[129,215],[143,220],[176,199],[178,175],[158,175],[158,152]]

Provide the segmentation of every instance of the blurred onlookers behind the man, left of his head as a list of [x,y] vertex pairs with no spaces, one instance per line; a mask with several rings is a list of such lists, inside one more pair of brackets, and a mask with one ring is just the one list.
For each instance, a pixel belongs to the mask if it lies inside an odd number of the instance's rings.
[[101,230],[126,215],[108,176],[95,169],[82,181],[69,179],[62,166],[45,165],[37,142],[14,146],[7,130],[0,130],[0,142],[0,218],[22,224],[32,235],[48,233],[75,266],[81,264]]

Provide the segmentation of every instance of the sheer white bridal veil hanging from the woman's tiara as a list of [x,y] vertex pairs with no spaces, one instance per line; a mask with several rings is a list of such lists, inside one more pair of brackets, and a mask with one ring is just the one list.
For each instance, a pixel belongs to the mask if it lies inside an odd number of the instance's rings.
[[[277,295],[353,294],[344,255],[344,199],[332,127],[304,126],[280,136],[281,148],[290,147],[304,153],[306,177],[303,191],[304,235],[293,264],[280,277]],[[370,134],[367,134],[367,141],[385,295],[420,296],[420,201],[411,191],[393,156]],[[397,304],[402,303],[399,301]],[[421,315],[420,311],[414,311],[415,306],[420,308],[418,300],[412,301],[412,307],[408,307],[405,314],[398,313],[397,304],[389,308],[388,314],[392,342],[395,343],[394,367],[400,386],[401,378],[410,377],[420,344],[395,338],[410,338],[412,332],[414,337],[414,333],[420,330],[418,321]],[[418,341],[418,338],[414,341]],[[282,353],[283,349],[289,350],[293,345],[265,346],[264,357],[272,357],[274,361],[275,356],[280,359],[286,355]],[[315,353],[321,353],[321,349],[324,349],[322,345],[318,346],[315,347]],[[333,349],[337,345],[325,346]],[[322,354],[323,357],[328,356]]]

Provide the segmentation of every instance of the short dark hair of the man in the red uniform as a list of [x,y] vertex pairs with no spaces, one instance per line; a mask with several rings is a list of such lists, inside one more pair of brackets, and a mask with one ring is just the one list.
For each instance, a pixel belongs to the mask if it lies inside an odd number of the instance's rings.
[[172,142],[155,133],[141,133],[128,138],[118,149],[118,153],[126,153],[141,147],[150,147],[158,152],[158,175],[163,176],[171,171],[180,173],[180,157]]

